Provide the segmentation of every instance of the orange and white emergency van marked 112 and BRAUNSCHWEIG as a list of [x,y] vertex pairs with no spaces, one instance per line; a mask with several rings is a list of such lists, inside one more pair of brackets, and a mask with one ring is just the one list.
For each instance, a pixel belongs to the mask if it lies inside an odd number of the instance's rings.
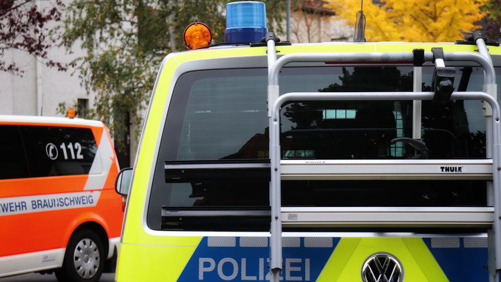
[[92,282],[114,271],[123,205],[106,126],[0,115],[0,136],[0,277],[55,271]]

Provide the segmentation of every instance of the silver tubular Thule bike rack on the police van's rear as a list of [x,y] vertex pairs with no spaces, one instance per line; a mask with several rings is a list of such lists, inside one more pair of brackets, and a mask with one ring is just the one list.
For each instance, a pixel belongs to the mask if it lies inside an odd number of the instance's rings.
[[[439,175],[436,162],[428,160],[323,160],[321,163],[306,163],[304,161],[281,160],[280,148],[280,109],[289,101],[375,101],[375,100],[432,100],[433,92],[336,92],[336,93],[287,93],[279,96],[279,73],[281,69],[292,62],[412,62],[412,52],[396,53],[315,53],[287,54],[277,59],[275,36],[273,33],[264,39],[268,46],[268,117],[270,120],[270,205],[271,205],[271,238],[270,238],[270,268],[271,281],[278,282],[282,270],[282,225],[286,226],[364,226],[364,227],[484,227],[488,228],[488,270],[490,281],[498,281],[498,271],[501,269],[501,132],[500,109],[496,97],[495,73],[490,55],[481,36],[475,36],[479,54],[469,52],[444,52],[443,61],[472,61],[478,63],[485,72],[484,92],[453,92],[450,99],[482,100],[488,104],[485,110],[487,116],[486,160],[441,160],[441,163],[465,165],[472,168],[471,173],[454,175],[455,179],[486,179],[490,182],[491,193],[488,193],[486,207],[430,207],[426,211],[412,207],[342,207],[342,208],[311,208],[282,207],[281,180],[291,179],[418,179],[420,171],[451,179],[450,176]],[[424,61],[434,62],[432,52],[424,52]],[[438,60],[437,60],[438,61]],[[442,62],[443,63],[443,62]],[[435,66],[437,63],[435,62]],[[416,68],[415,68],[416,70]],[[420,85],[421,76],[416,75],[414,85]],[[419,107],[417,108],[420,109]],[[490,117],[491,116],[491,117]],[[415,126],[420,126],[420,120],[414,118]],[[415,130],[414,130],[415,131]],[[420,138],[418,138],[420,139]],[[354,172],[353,167],[365,168]],[[395,168],[398,167],[398,170]],[[370,168],[370,169],[369,169]],[[396,172],[395,172],[396,171]],[[448,178],[447,178],[448,177]],[[489,181],[487,181],[489,182]],[[384,215],[384,216],[381,216]],[[361,220],[363,218],[363,220]],[[405,218],[405,221],[402,221]],[[497,258],[497,259],[496,259]]]

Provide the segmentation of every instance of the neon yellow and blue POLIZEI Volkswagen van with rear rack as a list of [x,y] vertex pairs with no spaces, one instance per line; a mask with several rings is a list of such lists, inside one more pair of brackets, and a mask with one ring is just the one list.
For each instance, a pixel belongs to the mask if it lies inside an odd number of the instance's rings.
[[498,43],[291,44],[264,9],[160,66],[116,280],[499,281]]

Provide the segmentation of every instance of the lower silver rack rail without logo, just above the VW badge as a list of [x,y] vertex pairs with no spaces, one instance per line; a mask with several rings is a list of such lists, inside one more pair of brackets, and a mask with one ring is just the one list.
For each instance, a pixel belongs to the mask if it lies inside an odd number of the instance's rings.
[[481,227],[493,207],[282,207],[287,227]]

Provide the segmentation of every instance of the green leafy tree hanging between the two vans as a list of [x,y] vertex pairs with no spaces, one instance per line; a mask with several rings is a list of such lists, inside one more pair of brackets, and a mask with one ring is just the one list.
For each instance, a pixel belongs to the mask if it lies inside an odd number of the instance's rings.
[[[79,44],[82,85],[97,96],[92,118],[102,120],[123,148],[132,122],[142,128],[142,114],[153,90],[158,67],[170,52],[186,50],[182,34],[193,22],[212,30],[214,43],[224,41],[228,0],[75,0],[64,19],[64,45]],[[268,25],[285,17],[286,0],[267,1]],[[131,121],[129,120],[131,117]]]

